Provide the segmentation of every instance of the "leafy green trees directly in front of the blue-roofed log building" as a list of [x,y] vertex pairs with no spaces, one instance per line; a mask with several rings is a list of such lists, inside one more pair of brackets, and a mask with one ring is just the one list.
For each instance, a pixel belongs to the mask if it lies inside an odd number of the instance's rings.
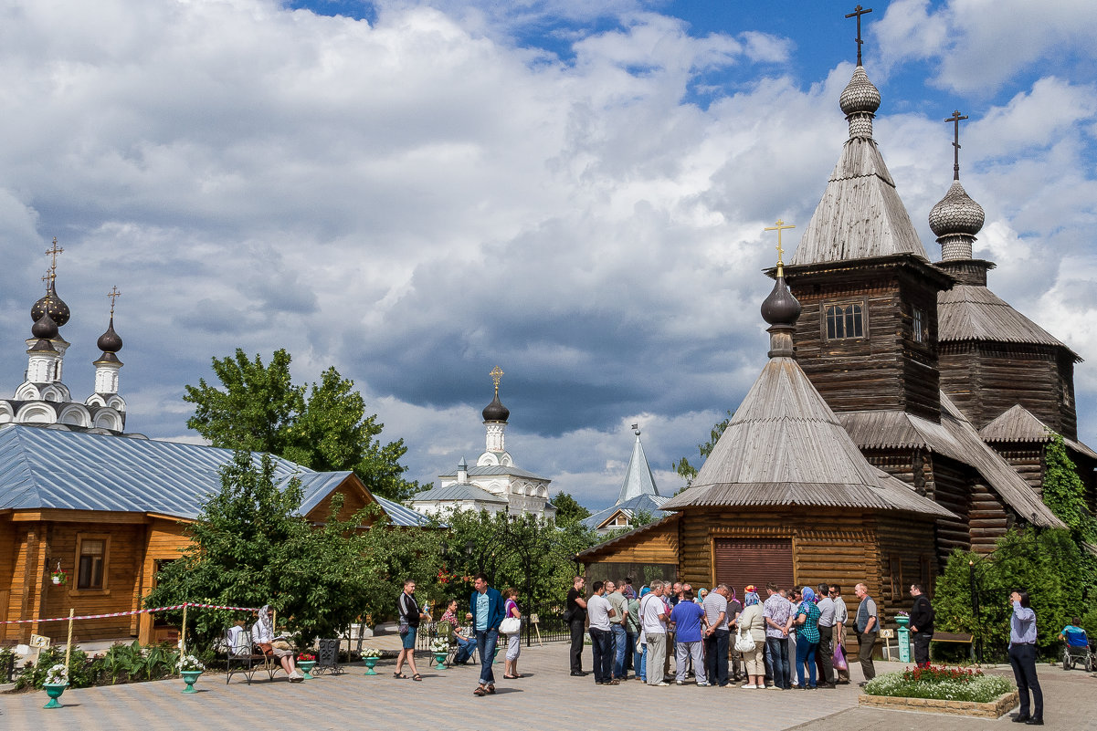
[[[314,526],[301,515],[301,501],[299,481],[279,483],[269,455],[257,464],[250,453],[236,452],[222,469],[219,492],[186,527],[190,545],[160,571],[145,605],[270,604],[280,626],[284,621],[308,642],[337,636],[362,615],[391,614],[404,578],[433,579],[434,532],[394,529],[375,505],[340,521],[338,493],[327,519]],[[371,522],[369,530],[359,528]],[[233,619],[222,610],[190,617],[197,647],[207,647]]]

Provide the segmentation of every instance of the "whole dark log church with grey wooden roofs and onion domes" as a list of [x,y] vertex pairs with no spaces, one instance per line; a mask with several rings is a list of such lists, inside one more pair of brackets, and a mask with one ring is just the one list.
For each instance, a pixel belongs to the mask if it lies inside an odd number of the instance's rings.
[[864,582],[890,616],[953,549],[1062,525],[1040,498],[1053,433],[1095,506],[1078,356],[987,288],[994,264],[972,256],[984,214],[959,157],[930,213],[930,262],[872,137],[880,92],[858,43],[840,98],[849,138],[794,255],[770,272],[770,361],[663,505],[674,514],[579,556],[596,573],[646,562],[694,585],[827,581],[850,595]]

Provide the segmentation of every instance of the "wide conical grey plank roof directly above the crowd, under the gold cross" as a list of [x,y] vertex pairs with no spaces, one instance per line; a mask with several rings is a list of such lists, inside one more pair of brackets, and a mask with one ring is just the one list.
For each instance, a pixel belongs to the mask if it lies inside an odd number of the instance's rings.
[[868,462],[800,365],[762,368],[692,486],[664,503],[817,505],[954,517]]

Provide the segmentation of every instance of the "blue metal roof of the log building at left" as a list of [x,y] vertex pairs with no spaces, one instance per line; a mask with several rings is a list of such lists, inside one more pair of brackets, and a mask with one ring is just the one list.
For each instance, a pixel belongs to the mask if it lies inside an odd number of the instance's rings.
[[[4,424],[0,510],[121,511],[193,519],[202,502],[220,490],[219,470],[231,459],[231,449],[199,444]],[[252,459],[258,464],[260,455]],[[279,482],[301,478],[302,514],[351,475],[316,472],[273,455],[271,459]],[[389,505],[399,509],[399,516]],[[407,509],[389,501],[382,506],[396,525],[419,524],[409,522]]]

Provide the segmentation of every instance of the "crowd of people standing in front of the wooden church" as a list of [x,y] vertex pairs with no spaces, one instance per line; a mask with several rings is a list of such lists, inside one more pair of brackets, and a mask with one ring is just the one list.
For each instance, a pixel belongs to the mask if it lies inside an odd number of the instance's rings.
[[[648,685],[814,690],[849,683],[847,628],[857,632],[863,683],[875,676],[872,648],[880,630],[875,602],[857,584],[857,612],[838,584],[800,590],[750,584],[740,599],[727,584],[694,594],[688,583],[653,581],[637,592],[632,579],[596,581],[586,595],[576,576],[564,618],[572,636],[570,672],[585,676],[583,648],[589,626],[597,685],[638,679]],[[916,659],[928,664],[932,608],[925,587],[912,584]],[[671,672],[671,662],[674,671]],[[632,672],[632,675],[630,675]]]

